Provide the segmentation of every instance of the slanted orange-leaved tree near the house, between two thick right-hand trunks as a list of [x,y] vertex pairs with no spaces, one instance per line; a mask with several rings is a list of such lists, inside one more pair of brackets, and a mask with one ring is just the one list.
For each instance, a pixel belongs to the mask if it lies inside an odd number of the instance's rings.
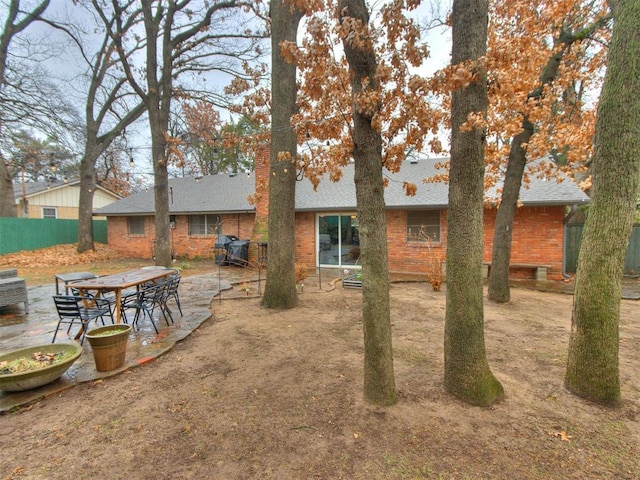
[[[599,86],[610,14],[592,0],[494,2],[492,11],[487,183],[502,172],[504,180],[489,299],[507,302],[513,220],[527,161],[551,154],[571,173],[590,158],[594,106],[585,107],[583,96]],[[550,164],[536,167],[534,175],[554,174]]]

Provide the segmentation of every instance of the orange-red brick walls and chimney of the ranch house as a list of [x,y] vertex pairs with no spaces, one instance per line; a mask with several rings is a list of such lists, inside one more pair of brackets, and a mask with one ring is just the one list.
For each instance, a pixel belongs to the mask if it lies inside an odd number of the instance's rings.
[[[269,211],[269,145],[263,145],[256,155],[256,212],[223,216],[223,233],[235,235],[252,242],[268,241],[267,218]],[[493,229],[495,209],[485,210],[484,258],[491,261],[493,249]],[[523,207],[516,214],[513,227],[512,263],[549,265],[548,278],[562,278],[563,207]],[[440,242],[425,244],[407,241],[407,212],[389,210],[387,212],[387,249],[389,270],[427,274],[427,271],[445,261],[447,243],[447,212],[441,211]],[[123,254],[133,257],[151,258],[152,239],[155,238],[153,217],[147,217],[145,236],[130,237],[127,232],[126,217],[109,218],[109,244]],[[215,252],[216,236],[189,236],[188,218],[178,216],[176,228],[172,230],[173,250],[187,257],[211,257]],[[314,268],[316,266],[316,214],[298,212],[296,214],[296,263]],[[255,262],[257,248],[251,245],[249,261]],[[514,276],[533,276],[529,271],[512,271]]]

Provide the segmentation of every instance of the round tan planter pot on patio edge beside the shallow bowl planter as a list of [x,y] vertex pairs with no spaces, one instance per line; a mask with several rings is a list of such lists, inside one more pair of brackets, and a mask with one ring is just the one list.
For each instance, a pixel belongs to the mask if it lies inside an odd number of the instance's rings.
[[107,325],[87,332],[86,338],[93,351],[96,370],[108,372],[124,365],[130,333],[131,325],[124,323]]

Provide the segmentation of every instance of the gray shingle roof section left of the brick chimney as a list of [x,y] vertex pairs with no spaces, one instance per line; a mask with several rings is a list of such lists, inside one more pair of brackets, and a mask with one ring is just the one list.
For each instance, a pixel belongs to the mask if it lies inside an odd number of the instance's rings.
[[[255,175],[207,175],[169,179],[169,212],[172,214],[253,212],[248,197],[255,192]],[[95,215],[153,215],[153,189],[134,193],[99,208]]]

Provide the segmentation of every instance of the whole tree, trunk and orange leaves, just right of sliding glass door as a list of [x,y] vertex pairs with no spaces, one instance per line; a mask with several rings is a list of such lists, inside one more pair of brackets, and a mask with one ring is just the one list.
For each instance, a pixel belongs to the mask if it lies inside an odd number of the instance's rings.
[[[384,170],[397,171],[408,151],[429,142],[439,151],[436,133],[445,116],[429,103],[429,83],[413,73],[428,56],[410,18],[418,4],[395,0],[373,12],[363,0],[309,3],[307,35],[300,46],[283,44],[285,58],[301,71],[299,112],[291,120],[305,146],[298,168],[317,184],[323,176],[339,180],[341,167],[355,162],[364,397],[379,405],[396,401]],[[377,20],[384,27],[377,27]],[[412,187],[405,185],[407,193]]]

